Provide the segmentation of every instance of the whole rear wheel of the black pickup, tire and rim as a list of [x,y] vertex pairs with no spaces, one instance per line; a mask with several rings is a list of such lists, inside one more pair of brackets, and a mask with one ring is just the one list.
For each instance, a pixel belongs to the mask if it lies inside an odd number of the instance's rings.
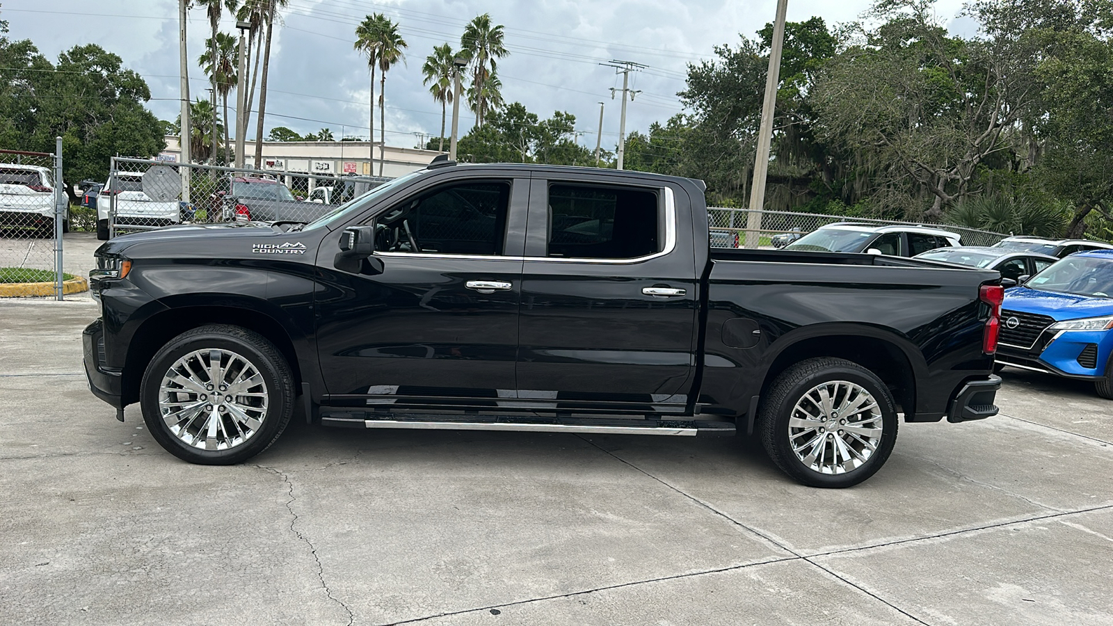
[[758,411],[769,458],[810,487],[844,488],[881,469],[897,439],[888,388],[845,359],[819,358],[785,370]]

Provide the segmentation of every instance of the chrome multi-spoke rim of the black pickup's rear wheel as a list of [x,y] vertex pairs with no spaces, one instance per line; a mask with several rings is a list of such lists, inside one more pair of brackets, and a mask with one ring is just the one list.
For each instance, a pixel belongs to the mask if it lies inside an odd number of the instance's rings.
[[809,389],[792,407],[788,442],[796,458],[818,473],[861,467],[881,442],[884,415],[861,385],[831,381]]

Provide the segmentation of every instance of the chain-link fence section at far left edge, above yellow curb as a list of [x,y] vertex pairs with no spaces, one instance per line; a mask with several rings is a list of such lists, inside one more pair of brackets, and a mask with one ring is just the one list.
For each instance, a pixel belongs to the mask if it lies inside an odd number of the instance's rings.
[[[60,140],[59,140],[60,146]],[[0,149],[0,295],[62,297],[61,235],[69,231],[61,158]]]

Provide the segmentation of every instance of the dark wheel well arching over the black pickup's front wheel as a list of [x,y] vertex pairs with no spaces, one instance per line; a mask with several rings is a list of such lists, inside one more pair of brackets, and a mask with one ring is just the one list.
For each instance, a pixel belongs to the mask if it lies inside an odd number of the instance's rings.
[[302,387],[302,371],[298,368],[297,352],[286,330],[273,317],[257,311],[237,309],[235,306],[185,306],[171,309],[151,315],[136,331],[128,348],[128,356],[124,368],[122,395],[124,403],[139,401],[139,385],[147,364],[168,341],[179,334],[204,326],[205,324],[232,324],[255,331],[270,340],[278,348],[294,372],[295,395]]

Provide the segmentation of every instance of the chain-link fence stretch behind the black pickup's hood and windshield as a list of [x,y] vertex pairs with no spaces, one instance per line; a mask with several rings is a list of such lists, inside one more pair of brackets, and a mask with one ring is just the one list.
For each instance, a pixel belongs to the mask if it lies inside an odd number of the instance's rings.
[[312,222],[387,180],[112,157],[97,237],[171,224]]

